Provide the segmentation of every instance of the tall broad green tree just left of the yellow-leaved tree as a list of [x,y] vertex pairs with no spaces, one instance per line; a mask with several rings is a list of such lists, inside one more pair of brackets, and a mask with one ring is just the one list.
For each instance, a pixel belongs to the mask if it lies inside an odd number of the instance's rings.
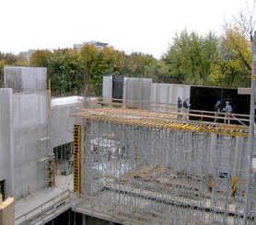
[[176,34],[162,61],[168,67],[165,80],[176,84],[209,84],[211,62],[218,51],[218,38],[209,32],[200,37],[185,29]]

